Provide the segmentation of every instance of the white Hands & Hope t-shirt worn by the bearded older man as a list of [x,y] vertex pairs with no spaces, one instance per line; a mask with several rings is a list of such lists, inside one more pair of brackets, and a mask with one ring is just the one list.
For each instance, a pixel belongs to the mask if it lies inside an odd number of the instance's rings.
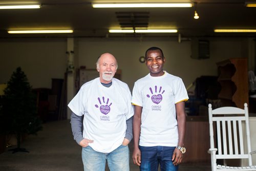
[[131,92],[126,83],[113,78],[111,87],[99,78],[84,83],[68,104],[83,118],[83,137],[94,140],[89,145],[97,152],[110,153],[125,137],[126,120],[134,115]]

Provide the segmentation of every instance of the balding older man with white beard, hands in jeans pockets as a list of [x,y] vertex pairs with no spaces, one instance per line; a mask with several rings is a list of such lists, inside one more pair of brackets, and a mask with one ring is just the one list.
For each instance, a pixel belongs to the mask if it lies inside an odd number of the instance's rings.
[[68,104],[73,136],[82,146],[84,170],[104,171],[106,161],[110,170],[130,170],[131,92],[126,83],[113,78],[117,61],[112,54],[102,54],[96,66],[99,77],[84,83]]

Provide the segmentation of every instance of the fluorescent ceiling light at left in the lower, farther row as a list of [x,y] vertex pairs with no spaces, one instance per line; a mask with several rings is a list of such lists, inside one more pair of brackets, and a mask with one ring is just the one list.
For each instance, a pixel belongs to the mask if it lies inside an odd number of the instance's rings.
[[73,30],[9,30],[9,34],[26,34],[26,33],[73,33]]

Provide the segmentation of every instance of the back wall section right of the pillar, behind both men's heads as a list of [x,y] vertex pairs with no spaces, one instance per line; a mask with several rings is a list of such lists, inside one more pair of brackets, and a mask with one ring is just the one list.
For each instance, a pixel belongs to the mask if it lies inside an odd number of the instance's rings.
[[181,77],[187,87],[201,75],[217,75],[216,62],[245,57],[241,55],[241,44],[242,41],[236,39],[211,40],[210,58],[198,60],[190,58],[190,41],[179,44],[177,40],[167,38],[81,38],[78,41],[78,57],[80,66],[94,69],[100,54],[114,54],[118,60],[118,68],[122,70],[122,80],[132,89],[134,82],[148,73],[145,64],[139,62],[139,57],[144,56],[146,49],[157,46],[163,50],[165,56],[164,70]]

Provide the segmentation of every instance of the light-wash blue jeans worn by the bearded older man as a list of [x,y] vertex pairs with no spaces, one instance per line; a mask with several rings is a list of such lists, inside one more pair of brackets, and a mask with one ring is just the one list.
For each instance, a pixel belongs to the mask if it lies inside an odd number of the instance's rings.
[[82,148],[84,171],[105,171],[106,161],[111,171],[129,171],[129,147],[120,145],[110,153],[96,152],[90,146]]

